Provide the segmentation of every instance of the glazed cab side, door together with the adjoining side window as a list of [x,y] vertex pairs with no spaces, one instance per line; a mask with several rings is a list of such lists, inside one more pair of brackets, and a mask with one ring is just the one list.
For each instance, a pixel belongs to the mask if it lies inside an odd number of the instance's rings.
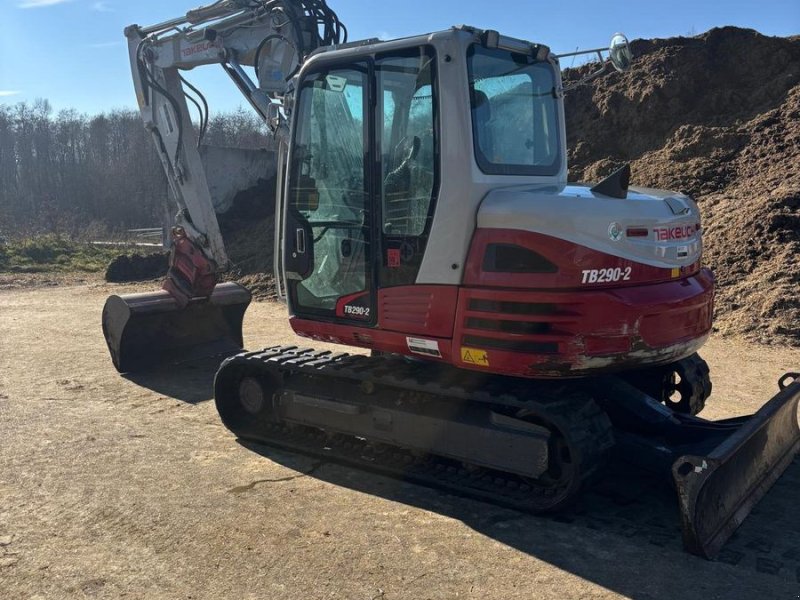
[[415,284],[439,186],[435,62],[411,47],[304,75],[283,216],[293,314],[374,326],[378,288]]

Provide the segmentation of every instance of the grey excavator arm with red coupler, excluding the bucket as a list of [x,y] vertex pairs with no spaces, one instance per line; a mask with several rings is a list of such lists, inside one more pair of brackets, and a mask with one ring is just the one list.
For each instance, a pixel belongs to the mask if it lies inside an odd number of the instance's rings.
[[345,41],[346,30],[324,0],[220,0],[149,27],[131,25],[125,36],[142,120],[179,209],[164,289],[185,307],[192,298],[211,296],[230,260],[200,152],[208,105],[181,71],[220,65],[268,125],[282,155],[292,77],[318,47]]

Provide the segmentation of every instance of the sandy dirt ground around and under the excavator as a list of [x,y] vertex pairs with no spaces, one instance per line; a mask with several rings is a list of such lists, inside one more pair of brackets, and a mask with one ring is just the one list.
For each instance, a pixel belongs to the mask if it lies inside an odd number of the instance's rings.
[[[800,462],[708,562],[647,505],[532,517],[247,448],[209,401],[213,365],[114,371],[103,301],[142,285],[24,283],[0,286],[3,598],[800,597]],[[279,304],[245,329],[250,348],[296,341]],[[800,369],[800,350],[731,339],[704,356],[712,417]]]

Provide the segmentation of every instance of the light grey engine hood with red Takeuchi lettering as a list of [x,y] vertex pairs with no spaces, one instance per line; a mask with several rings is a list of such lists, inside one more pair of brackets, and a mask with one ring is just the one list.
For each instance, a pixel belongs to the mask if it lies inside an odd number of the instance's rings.
[[683,194],[631,187],[625,199],[583,184],[515,186],[489,192],[479,229],[556,237],[642,264],[670,268],[700,260],[700,211]]

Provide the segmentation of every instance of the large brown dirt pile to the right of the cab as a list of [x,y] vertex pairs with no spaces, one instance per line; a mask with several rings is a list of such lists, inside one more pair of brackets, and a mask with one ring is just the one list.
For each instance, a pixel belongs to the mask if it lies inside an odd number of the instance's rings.
[[570,178],[630,162],[635,185],[692,195],[719,330],[800,345],[800,38],[725,27],[631,45],[631,71],[567,95]]

